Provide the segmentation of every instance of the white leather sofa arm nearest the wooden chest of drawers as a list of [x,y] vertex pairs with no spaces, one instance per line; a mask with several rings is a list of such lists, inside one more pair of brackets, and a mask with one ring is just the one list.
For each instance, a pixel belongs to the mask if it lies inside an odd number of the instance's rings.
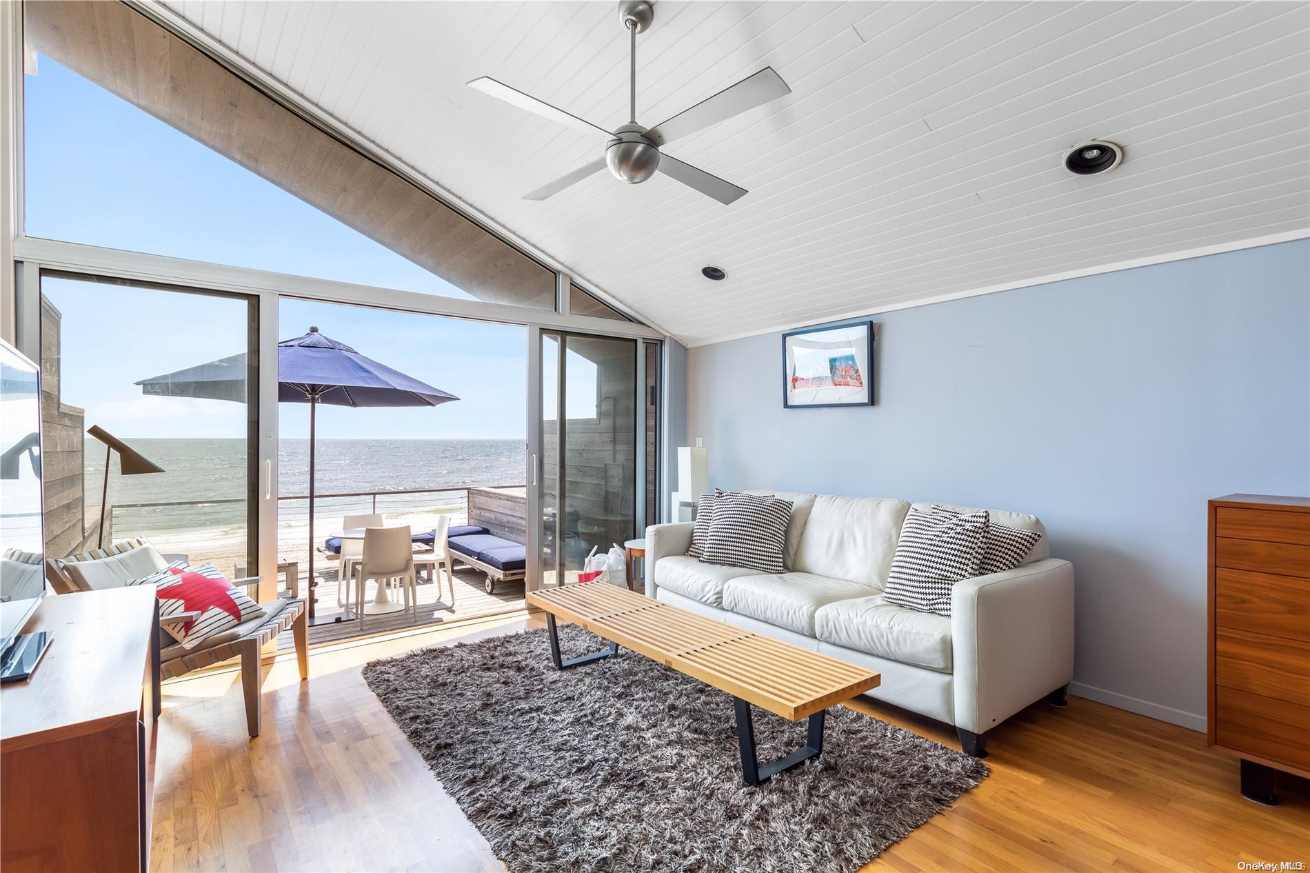
[[951,590],[955,725],[981,734],[1073,679],[1073,565],[1043,558]]

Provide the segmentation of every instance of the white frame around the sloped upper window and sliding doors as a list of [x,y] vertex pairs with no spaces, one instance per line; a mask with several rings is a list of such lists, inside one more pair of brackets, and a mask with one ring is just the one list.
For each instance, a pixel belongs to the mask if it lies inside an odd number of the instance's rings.
[[[461,198],[453,195],[401,159],[363,140],[354,131],[333,119],[318,107],[308,104],[297,94],[276,83],[270,76],[236,56],[207,34],[185,22],[172,10],[138,0],[122,0],[134,12],[145,16],[173,35],[186,41],[210,59],[228,68],[253,88],[263,92],[274,102],[316,125],[324,132],[334,136],[346,147],[359,152],[365,159],[397,174],[403,181],[447,206],[461,218],[472,222],[482,231],[495,236],[516,252],[542,265],[555,277],[555,308],[540,309],[486,300],[464,300],[419,291],[355,284],[333,279],[292,275],[252,267],[240,267],[186,258],[110,249],[83,242],[67,242],[31,237],[25,233],[25,135],[24,135],[24,4],[0,4],[0,146],[12,146],[7,160],[0,161],[3,185],[12,193],[5,214],[0,216],[0,281],[3,281],[4,300],[0,303],[0,332],[12,337],[14,346],[29,355],[39,355],[41,340],[41,274],[62,273],[71,277],[102,277],[123,279],[143,284],[178,286],[191,290],[231,292],[249,295],[258,307],[259,360],[278,359],[279,301],[283,296],[368,305],[398,312],[436,315],[456,319],[474,319],[502,324],[515,324],[528,328],[534,336],[541,329],[590,333],[654,341],[662,349],[668,337],[658,326],[650,325],[641,313],[620,304],[609,295],[599,291],[590,282],[583,282],[562,262],[512,233],[490,216],[485,215]],[[12,273],[10,263],[12,261]],[[9,279],[12,278],[12,284]],[[575,283],[605,305],[626,315],[633,321],[600,319],[572,315],[569,311],[569,284]],[[635,320],[639,319],[639,320]],[[531,341],[529,341],[531,345]],[[638,358],[642,355],[638,353]],[[667,366],[667,355],[660,355],[662,367]],[[533,370],[529,355],[529,385],[533,384]],[[662,374],[663,383],[663,374]],[[278,554],[278,447],[279,433],[278,368],[261,366],[258,370],[258,476],[255,480],[258,502],[258,532],[255,551],[258,554],[258,575],[261,577],[261,599],[271,595],[276,579]],[[667,401],[662,395],[660,402]],[[532,427],[536,412],[532,391],[525,413]],[[536,461],[536,456],[533,456]],[[663,464],[662,464],[663,467]],[[660,478],[663,481],[663,469]],[[531,476],[534,475],[529,473]],[[532,478],[531,481],[536,481]],[[638,498],[639,499],[639,498]]]

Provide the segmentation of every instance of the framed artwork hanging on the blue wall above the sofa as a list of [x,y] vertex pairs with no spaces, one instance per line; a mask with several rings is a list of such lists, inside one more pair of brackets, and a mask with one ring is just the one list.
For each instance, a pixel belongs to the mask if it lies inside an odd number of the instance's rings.
[[872,404],[872,321],[848,321],[782,334],[783,406]]

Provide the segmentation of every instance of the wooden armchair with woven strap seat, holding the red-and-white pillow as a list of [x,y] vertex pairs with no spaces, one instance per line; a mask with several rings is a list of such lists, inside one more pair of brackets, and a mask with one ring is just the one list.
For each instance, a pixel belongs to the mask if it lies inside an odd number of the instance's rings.
[[[177,558],[179,556],[169,557]],[[144,578],[166,566],[164,556],[145,540],[127,540],[94,552],[46,561],[47,577],[59,594],[122,587],[132,579]],[[233,579],[232,583],[244,586],[250,596],[257,599],[258,582],[257,577],[249,577]],[[258,737],[262,726],[259,688],[263,684],[261,658],[263,645],[291,628],[296,641],[300,678],[303,680],[309,678],[309,625],[305,616],[305,602],[278,598],[259,606],[263,607],[265,615],[216,633],[194,649],[183,649],[165,630],[165,627],[185,624],[199,617],[199,613],[185,612],[161,617],[159,629],[161,679],[173,679],[193,670],[241,658],[241,689],[245,693],[246,728],[252,737]]]

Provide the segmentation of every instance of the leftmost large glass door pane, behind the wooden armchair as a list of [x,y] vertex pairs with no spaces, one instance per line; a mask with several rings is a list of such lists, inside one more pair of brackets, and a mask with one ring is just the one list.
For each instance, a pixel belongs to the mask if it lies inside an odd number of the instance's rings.
[[[224,398],[190,396],[168,378],[232,355],[249,360],[254,317],[246,298],[42,277],[47,556],[145,536],[229,577],[255,566],[250,371],[233,370]],[[153,387],[139,384],[147,380]],[[123,476],[113,454],[106,490],[106,446],[86,435],[92,426],[164,472]]]

